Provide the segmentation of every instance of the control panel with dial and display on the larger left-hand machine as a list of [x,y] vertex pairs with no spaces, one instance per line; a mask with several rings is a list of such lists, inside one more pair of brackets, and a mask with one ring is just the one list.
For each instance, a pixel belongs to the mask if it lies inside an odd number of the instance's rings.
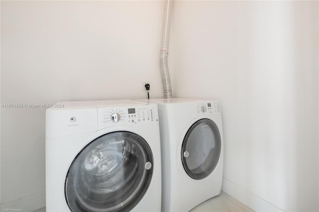
[[98,123],[106,127],[115,123],[139,124],[158,122],[159,115],[154,105],[132,107],[98,107]]

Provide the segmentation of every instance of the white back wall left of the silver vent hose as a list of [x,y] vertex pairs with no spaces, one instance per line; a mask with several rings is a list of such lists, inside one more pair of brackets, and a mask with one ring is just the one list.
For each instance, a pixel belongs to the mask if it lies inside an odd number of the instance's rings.
[[[162,98],[163,1],[2,1],[1,104]],[[1,108],[1,208],[45,204],[45,108]]]

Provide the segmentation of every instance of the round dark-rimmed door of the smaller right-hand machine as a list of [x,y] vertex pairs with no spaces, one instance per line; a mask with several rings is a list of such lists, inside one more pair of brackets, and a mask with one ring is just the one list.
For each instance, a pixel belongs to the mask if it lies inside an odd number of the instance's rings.
[[221,152],[221,138],[217,125],[210,119],[196,121],[187,131],[181,159],[186,173],[201,180],[215,169]]

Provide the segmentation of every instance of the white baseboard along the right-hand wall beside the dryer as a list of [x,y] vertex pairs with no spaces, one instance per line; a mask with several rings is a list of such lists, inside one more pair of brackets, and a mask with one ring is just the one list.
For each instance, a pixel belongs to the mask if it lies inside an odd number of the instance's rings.
[[256,212],[283,212],[283,210],[225,178],[223,178],[221,190]]

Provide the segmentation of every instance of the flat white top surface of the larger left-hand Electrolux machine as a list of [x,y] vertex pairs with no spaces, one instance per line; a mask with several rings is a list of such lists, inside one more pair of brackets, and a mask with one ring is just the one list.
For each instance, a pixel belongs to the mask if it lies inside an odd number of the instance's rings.
[[146,102],[133,100],[106,100],[106,101],[82,101],[82,102],[58,102],[55,105],[59,108],[50,107],[49,109],[68,109],[68,108],[83,108],[83,107],[118,107],[118,106],[143,106],[150,105]]

